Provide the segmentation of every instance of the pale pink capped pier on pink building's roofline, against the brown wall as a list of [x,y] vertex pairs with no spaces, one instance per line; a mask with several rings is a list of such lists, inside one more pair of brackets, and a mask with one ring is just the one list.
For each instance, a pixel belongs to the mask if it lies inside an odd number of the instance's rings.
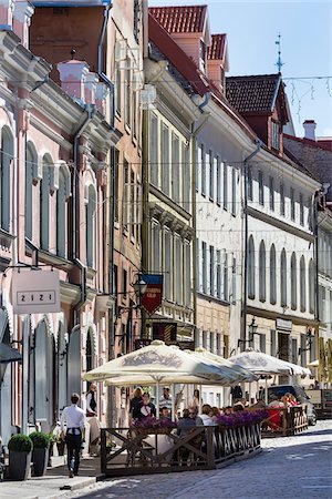
[[89,74],[87,63],[72,59],[70,61],[59,62],[56,68],[60,73],[62,90],[71,98],[81,103],[85,103],[86,78]]

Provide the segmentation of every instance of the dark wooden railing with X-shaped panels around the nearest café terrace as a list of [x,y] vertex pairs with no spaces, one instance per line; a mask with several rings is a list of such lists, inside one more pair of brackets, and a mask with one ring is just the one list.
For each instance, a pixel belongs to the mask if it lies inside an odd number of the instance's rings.
[[176,430],[104,428],[101,430],[101,471],[105,476],[216,469],[259,452],[260,425]]

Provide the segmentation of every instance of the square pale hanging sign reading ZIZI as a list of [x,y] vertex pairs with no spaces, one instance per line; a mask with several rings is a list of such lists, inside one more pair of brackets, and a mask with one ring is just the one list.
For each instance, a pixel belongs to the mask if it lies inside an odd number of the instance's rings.
[[11,286],[14,314],[61,312],[59,271],[15,271]]

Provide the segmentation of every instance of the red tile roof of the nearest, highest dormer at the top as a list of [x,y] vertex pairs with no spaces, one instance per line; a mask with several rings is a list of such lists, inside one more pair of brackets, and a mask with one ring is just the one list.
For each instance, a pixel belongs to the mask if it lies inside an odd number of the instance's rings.
[[201,33],[207,6],[151,7],[148,12],[168,33]]

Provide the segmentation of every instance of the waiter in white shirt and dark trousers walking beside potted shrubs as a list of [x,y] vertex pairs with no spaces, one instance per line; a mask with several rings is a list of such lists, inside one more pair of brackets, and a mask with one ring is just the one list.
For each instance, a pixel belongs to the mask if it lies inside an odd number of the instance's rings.
[[[71,406],[63,409],[60,420],[61,438],[66,442],[69,477],[79,475],[80,452],[85,441],[86,418],[84,410],[77,406],[80,395],[72,394]],[[66,431],[64,427],[66,426]]]

